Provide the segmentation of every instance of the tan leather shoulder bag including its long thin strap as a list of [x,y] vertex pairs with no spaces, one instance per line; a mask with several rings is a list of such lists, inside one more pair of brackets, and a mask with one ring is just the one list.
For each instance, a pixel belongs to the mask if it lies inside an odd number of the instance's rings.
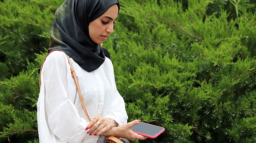
[[[53,52],[53,51],[61,51],[61,50],[57,50],[57,49],[56,49],[56,50],[52,50],[52,51],[50,51],[50,52],[46,55],[46,57],[47,57],[51,52]],[[64,51],[62,51],[62,52],[65,53]],[[67,54],[66,54],[66,56],[67,56],[67,58],[68,58],[68,55],[67,55]],[[46,57],[45,57],[45,59],[46,59]],[[45,61],[45,59],[44,59],[44,61]],[[44,61],[43,61],[43,64],[44,64]],[[73,77],[73,79],[75,80],[75,85],[77,86],[77,90],[78,90],[78,94],[79,94],[79,99],[80,99],[80,101],[81,101],[82,108],[83,108],[83,110],[84,110],[84,113],[85,113],[87,119],[88,119],[89,122],[90,122],[91,119],[90,119],[90,117],[89,117],[89,115],[88,115],[88,113],[87,113],[87,111],[86,111],[86,109],[85,109],[85,106],[84,106],[84,100],[83,100],[82,93],[81,93],[81,91],[80,91],[80,87],[79,87],[79,84],[78,84],[77,76],[75,75],[75,70],[73,69],[69,58],[68,58],[68,63],[69,63],[69,65],[70,65],[70,70],[71,70],[72,77]],[[42,70],[43,64],[42,64],[42,66],[41,66],[41,70]],[[41,88],[41,70],[40,70],[40,77],[39,77],[39,87],[40,87],[40,88]],[[121,139],[124,140],[124,142],[123,142]],[[114,137],[114,136],[109,136],[109,137],[105,140],[105,143],[129,143],[129,141],[128,141],[127,139],[116,138],[116,137]]]

